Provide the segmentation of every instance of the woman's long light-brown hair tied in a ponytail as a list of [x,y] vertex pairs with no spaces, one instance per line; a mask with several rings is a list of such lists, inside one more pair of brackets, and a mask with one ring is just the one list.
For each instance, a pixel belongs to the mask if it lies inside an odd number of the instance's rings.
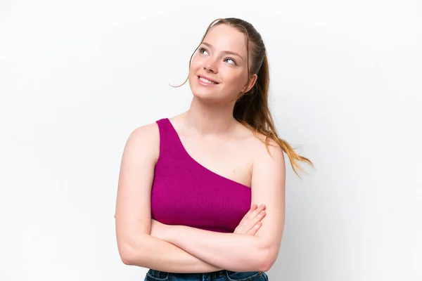
[[[268,106],[269,64],[267,60],[267,50],[262,41],[261,34],[245,20],[238,18],[217,18],[207,27],[200,43],[203,42],[210,29],[216,25],[229,25],[245,34],[246,49],[248,50],[248,78],[251,73],[257,74],[257,81],[254,86],[246,93],[239,94],[234,105],[234,118],[238,122],[241,122],[241,124],[247,126],[257,138],[259,138],[257,133],[262,133],[262,135],[265,136],[265,140],[263,141],[262,138],[259,139],[265,143],[268,152],[269,139],[274,140],[280,145],[283,152],[288,155],[293,171],[295,171],[295,174],[300,178],[298,170],[302,171],[302,173],[305,173],[305,171],[300,167],[298,162],[305,162],[312,166],[312,168],[314,168],[314,164],[306,157],[298,155],[298,153],[296,153],[286,141],[279,138],[279,135],[277,134],[274,119]],[[198,50],[199,46],[200,44],[196,50]],[[191,61],[196,50],[193,51],[191,59],[189,60],[189,69],[191,68]],[[249,63],[249,57],[252,58],[251,63]],[[188,81],[188,78],[179,86],[184,85],[186,81]]]

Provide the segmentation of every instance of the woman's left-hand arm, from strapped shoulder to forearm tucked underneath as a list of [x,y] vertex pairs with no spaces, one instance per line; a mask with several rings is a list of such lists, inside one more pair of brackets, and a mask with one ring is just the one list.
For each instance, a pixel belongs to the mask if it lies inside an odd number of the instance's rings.
[[172,273],[221,270],[174,244],[151,236],[151,188],[160,137],[156,123],[141,126],[129,136],[120,165],[115,226],[124,264]]

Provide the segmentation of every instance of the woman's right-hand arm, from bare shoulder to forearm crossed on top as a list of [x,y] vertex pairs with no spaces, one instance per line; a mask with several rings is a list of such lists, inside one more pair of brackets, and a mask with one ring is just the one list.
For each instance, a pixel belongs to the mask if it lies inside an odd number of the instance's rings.
[[[219,268],[233,271],[267,271],[277,259],[285,221],[286,165],[275,142],[264,147],[252,169],[252,202],[265,204],[266,216],[255,235],[217,233],[155,221],[151,235],[175,244]],[[153,224],[154,224],[153,223]]]

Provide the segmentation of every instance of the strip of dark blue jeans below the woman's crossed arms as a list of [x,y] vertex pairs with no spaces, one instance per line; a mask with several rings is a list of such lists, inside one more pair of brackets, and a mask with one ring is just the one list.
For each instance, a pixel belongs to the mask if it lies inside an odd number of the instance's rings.
[[219,270],[211,273],[168,273],[150,269],[144,281],[269,281],[262,271],[235,272]]

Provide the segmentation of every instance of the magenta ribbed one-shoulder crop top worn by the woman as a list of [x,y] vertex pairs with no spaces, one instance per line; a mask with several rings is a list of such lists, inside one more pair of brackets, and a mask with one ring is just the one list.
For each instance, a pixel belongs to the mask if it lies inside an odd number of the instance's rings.
[[156,123],[160,157],[151,191],[152,218],[170,225],[233,233],[250,209],[250,188],[196,162],[169,119]]

